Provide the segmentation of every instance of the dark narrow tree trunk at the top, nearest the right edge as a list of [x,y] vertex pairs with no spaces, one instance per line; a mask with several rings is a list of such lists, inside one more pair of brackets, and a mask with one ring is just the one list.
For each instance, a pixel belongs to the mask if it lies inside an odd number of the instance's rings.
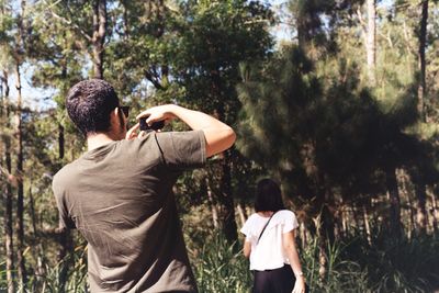
[[428,20],[428,0],[421,1],[421,15],[419,24],[419,48],[418,48],[418,66],[419,66],[419,84],[418,84],[418,113],[423,121],[425,121],[425,95],[427,93],[426,82],[426,58],[425,50],[427,44],[427,20]]

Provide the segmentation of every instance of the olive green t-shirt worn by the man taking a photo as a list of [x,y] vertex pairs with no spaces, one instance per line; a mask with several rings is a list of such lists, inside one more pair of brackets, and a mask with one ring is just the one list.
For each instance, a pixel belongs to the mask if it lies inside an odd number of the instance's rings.
[[196,292],[172,185],[205,162],[201,131],[113,142],[65,166],[53,190],[88,241],[91,292]]

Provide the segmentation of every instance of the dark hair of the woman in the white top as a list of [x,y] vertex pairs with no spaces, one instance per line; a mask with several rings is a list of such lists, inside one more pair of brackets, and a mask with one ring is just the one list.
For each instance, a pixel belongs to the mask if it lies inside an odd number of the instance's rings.
[[278,183],[271,179],[259,180],[256,188],[255,211],[256,212],[278,212],[284,210],[282,192]]

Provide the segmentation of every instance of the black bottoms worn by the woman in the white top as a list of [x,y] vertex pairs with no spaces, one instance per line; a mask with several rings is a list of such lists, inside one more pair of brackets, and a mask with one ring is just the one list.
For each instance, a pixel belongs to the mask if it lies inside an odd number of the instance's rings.
[[[291,293],[294,288],[295,277],[290,264],[266,271],[254,271],[252,293]],[[308,288],[306,286],[306,292]]]

